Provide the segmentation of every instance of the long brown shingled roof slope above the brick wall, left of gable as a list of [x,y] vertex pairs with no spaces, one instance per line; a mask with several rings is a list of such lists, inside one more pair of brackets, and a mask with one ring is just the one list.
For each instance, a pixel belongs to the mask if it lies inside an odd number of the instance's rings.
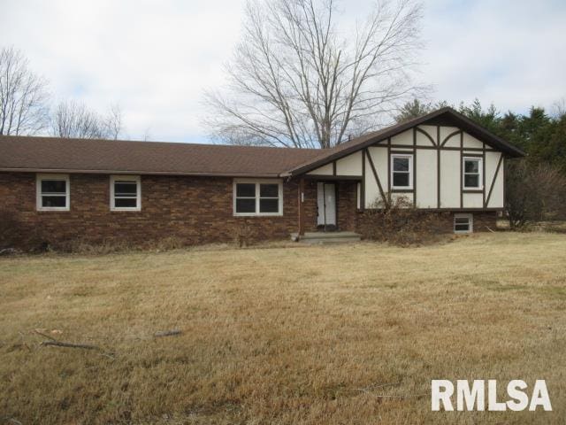
[[273,177],[320,150],[0,136],[0,170]]

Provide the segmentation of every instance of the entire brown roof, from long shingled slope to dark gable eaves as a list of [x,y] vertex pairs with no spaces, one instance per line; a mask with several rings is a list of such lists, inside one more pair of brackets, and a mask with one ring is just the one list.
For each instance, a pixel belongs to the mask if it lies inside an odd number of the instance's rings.
[[297,175],[419,124],[435,122],[456,125],[509,157],[524,156],[523,151],[461,113],[452,108],[442,108],[414,120],[356,137],[329,150],[0,135],[0,171],[256,177]]

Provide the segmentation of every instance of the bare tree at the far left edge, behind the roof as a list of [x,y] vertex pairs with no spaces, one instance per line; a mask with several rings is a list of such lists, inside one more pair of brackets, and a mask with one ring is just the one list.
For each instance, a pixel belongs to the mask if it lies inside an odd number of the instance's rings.
[[47,126],[46,88],[19,50],[0,50],[0,135],[32,135]]

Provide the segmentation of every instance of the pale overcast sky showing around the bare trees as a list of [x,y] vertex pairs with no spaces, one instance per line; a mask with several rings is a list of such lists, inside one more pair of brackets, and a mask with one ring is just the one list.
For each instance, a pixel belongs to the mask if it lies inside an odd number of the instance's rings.
[[[207,142],[203,89],[224,81],[244,0],[0,0],[0,46],[22,50],[54,99],[119,104],[126,138]],[[371,4],[343,0],[353,17]],[[360,16],[363,18],[363,16]],[[432,100],[503,111],[566,97],[566,2],[425,0],[420,79]]]

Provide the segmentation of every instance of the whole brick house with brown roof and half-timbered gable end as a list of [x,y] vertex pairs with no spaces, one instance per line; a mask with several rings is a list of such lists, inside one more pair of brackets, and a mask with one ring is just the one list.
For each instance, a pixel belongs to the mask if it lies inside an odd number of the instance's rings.
[[447,212],[448,231],[495,226],[504,160],[524,152],[450,108],[331,150],[0,136],[4,243],[183,243],[364,234],[390,194]]

